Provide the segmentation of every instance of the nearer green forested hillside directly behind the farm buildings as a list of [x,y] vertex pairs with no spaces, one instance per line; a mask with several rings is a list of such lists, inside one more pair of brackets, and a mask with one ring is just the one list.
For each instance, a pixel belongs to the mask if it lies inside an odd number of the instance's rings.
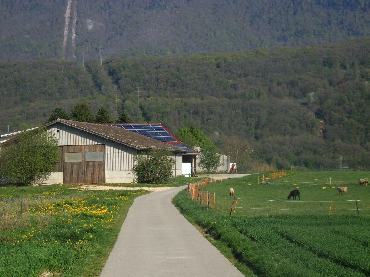
[[[222,149],[236,134],[250,165],[370,165],[370,38],[305,48],[73,62],[0,62],[0,128],[41,124],[56,106],[125,109]],[[235,140],[235,137],[233,137]]]

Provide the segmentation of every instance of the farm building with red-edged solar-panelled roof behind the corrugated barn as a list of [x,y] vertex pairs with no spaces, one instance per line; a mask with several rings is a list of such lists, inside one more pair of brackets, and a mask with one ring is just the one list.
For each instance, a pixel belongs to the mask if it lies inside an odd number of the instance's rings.
[[185,176],[190,174],[192,177],[196,175],[196,162],[200,153],[182,144],[161,123],[108,123],[102,125],[120,127],[185,150],[186,152],[182,153],[181,174]]

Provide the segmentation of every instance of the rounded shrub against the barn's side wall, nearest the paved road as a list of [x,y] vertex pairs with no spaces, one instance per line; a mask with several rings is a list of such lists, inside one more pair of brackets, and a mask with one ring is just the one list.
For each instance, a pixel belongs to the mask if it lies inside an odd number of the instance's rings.
[[168,182],[172,176],[174,158],[171,152],[151,150],[135,155],[134,172],[138,183],[161,184]]

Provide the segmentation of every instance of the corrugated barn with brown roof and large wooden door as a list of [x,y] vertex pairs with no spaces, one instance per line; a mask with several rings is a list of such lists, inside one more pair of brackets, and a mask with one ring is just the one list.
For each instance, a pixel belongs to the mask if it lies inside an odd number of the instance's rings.
[[122,128],[57,119],[45,125],[58,138],[62,154],[46,184],[133,182],[134,155],[154,148],[173,152],[173,175],[181,175],[186,150]]

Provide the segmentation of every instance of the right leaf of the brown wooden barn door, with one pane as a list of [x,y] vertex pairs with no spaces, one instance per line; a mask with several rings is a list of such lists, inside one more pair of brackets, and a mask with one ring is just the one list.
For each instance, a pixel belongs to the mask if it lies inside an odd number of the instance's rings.
[[85,184],[105,183],[104,145],[85,145]]

